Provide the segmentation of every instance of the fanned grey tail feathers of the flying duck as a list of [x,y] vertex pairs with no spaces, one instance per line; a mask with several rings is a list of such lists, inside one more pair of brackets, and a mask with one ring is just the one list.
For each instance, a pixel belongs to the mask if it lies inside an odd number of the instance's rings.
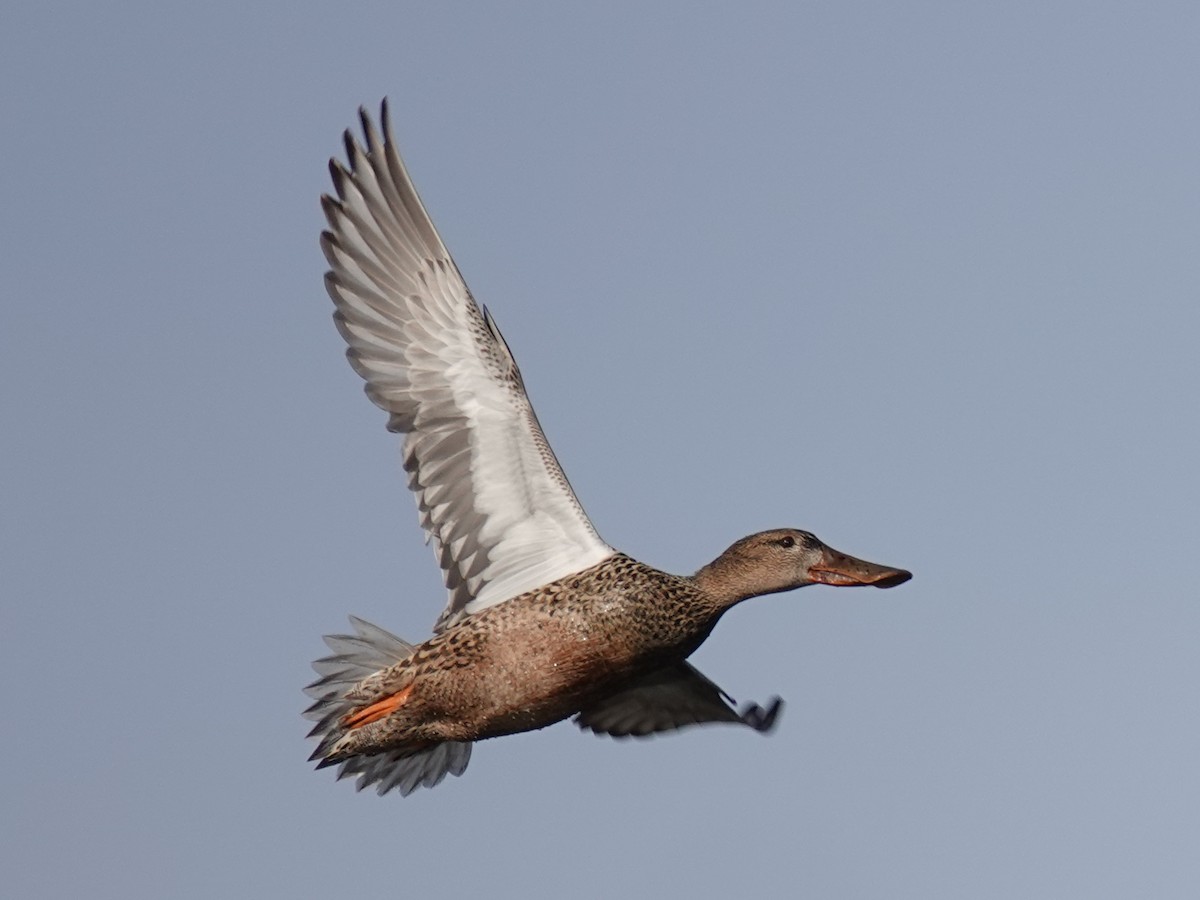
[[376,785],[379,794],[397,788],[408,796],[418,787],[433,787],[448,774],[461,775],[470,761],[470,744],[444,742],[419,748],[401,748],[382,754],[356,754],[330,758],[334,745],[346,732],[343,720],[355,707],[346,692],[379,670],[389,668],[413,652],[413,646],[401,641],[378,625],[350,616],[354,635],[325,635],[332,654],[312,664],[320,676],[305,688],[316,702],[304,715],[317,722],[308,737],[319,738],[311,760],[319,760],[317,768],[340,766],[337,778],[358,776],[356,788]]

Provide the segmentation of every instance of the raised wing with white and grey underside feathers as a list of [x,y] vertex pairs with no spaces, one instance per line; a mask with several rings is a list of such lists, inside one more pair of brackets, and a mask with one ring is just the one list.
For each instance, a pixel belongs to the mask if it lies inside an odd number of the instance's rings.
[[566,481],[496,323],[396,152],[360,110],[330,172],[322,248],[334,319],[367,396],[404,432],[404,469],[450,592],[437,630],[612,554]]

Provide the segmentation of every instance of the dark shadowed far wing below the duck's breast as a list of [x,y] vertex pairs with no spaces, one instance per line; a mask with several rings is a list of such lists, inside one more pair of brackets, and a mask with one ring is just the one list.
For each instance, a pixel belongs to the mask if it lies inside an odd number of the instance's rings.
[[619,694],[582,710],[575,724],[614,738],[644,737],[704,722],[739,722],[766,732],[774,726],[784,701],[775,697],[766,709],[748,703],[739,713],[728,694],[695,666],[679,662],[652,672]]

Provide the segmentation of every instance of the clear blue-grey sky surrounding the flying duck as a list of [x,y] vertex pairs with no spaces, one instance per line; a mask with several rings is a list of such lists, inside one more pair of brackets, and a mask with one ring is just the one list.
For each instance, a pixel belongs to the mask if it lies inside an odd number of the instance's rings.
[[[14,898],[1200,896],[1200,6],[10,4]],[[444,602],[317,197],[391,97],[598,529],[910,568],[731,612],[776,732],[316,773]]]

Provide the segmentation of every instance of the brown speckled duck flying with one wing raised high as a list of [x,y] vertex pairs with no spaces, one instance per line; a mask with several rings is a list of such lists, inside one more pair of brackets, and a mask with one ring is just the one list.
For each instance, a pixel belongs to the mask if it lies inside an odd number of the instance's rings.
[[704,722],[766,732],[781,707],[737,709],[688,662],[726,610],[805,584],[890,588],[912,575],[780,528],[695,575],[608,546],[563,474],[494,319],[475,304],[391,136],[360,110],[322,197],[325,286],[367,396],[404,434],[408,486],[449,604],[410,644],[352,617],[306,689],[318,768],[408,794],[461,775],[472,744],[569,716],[643,736]]

